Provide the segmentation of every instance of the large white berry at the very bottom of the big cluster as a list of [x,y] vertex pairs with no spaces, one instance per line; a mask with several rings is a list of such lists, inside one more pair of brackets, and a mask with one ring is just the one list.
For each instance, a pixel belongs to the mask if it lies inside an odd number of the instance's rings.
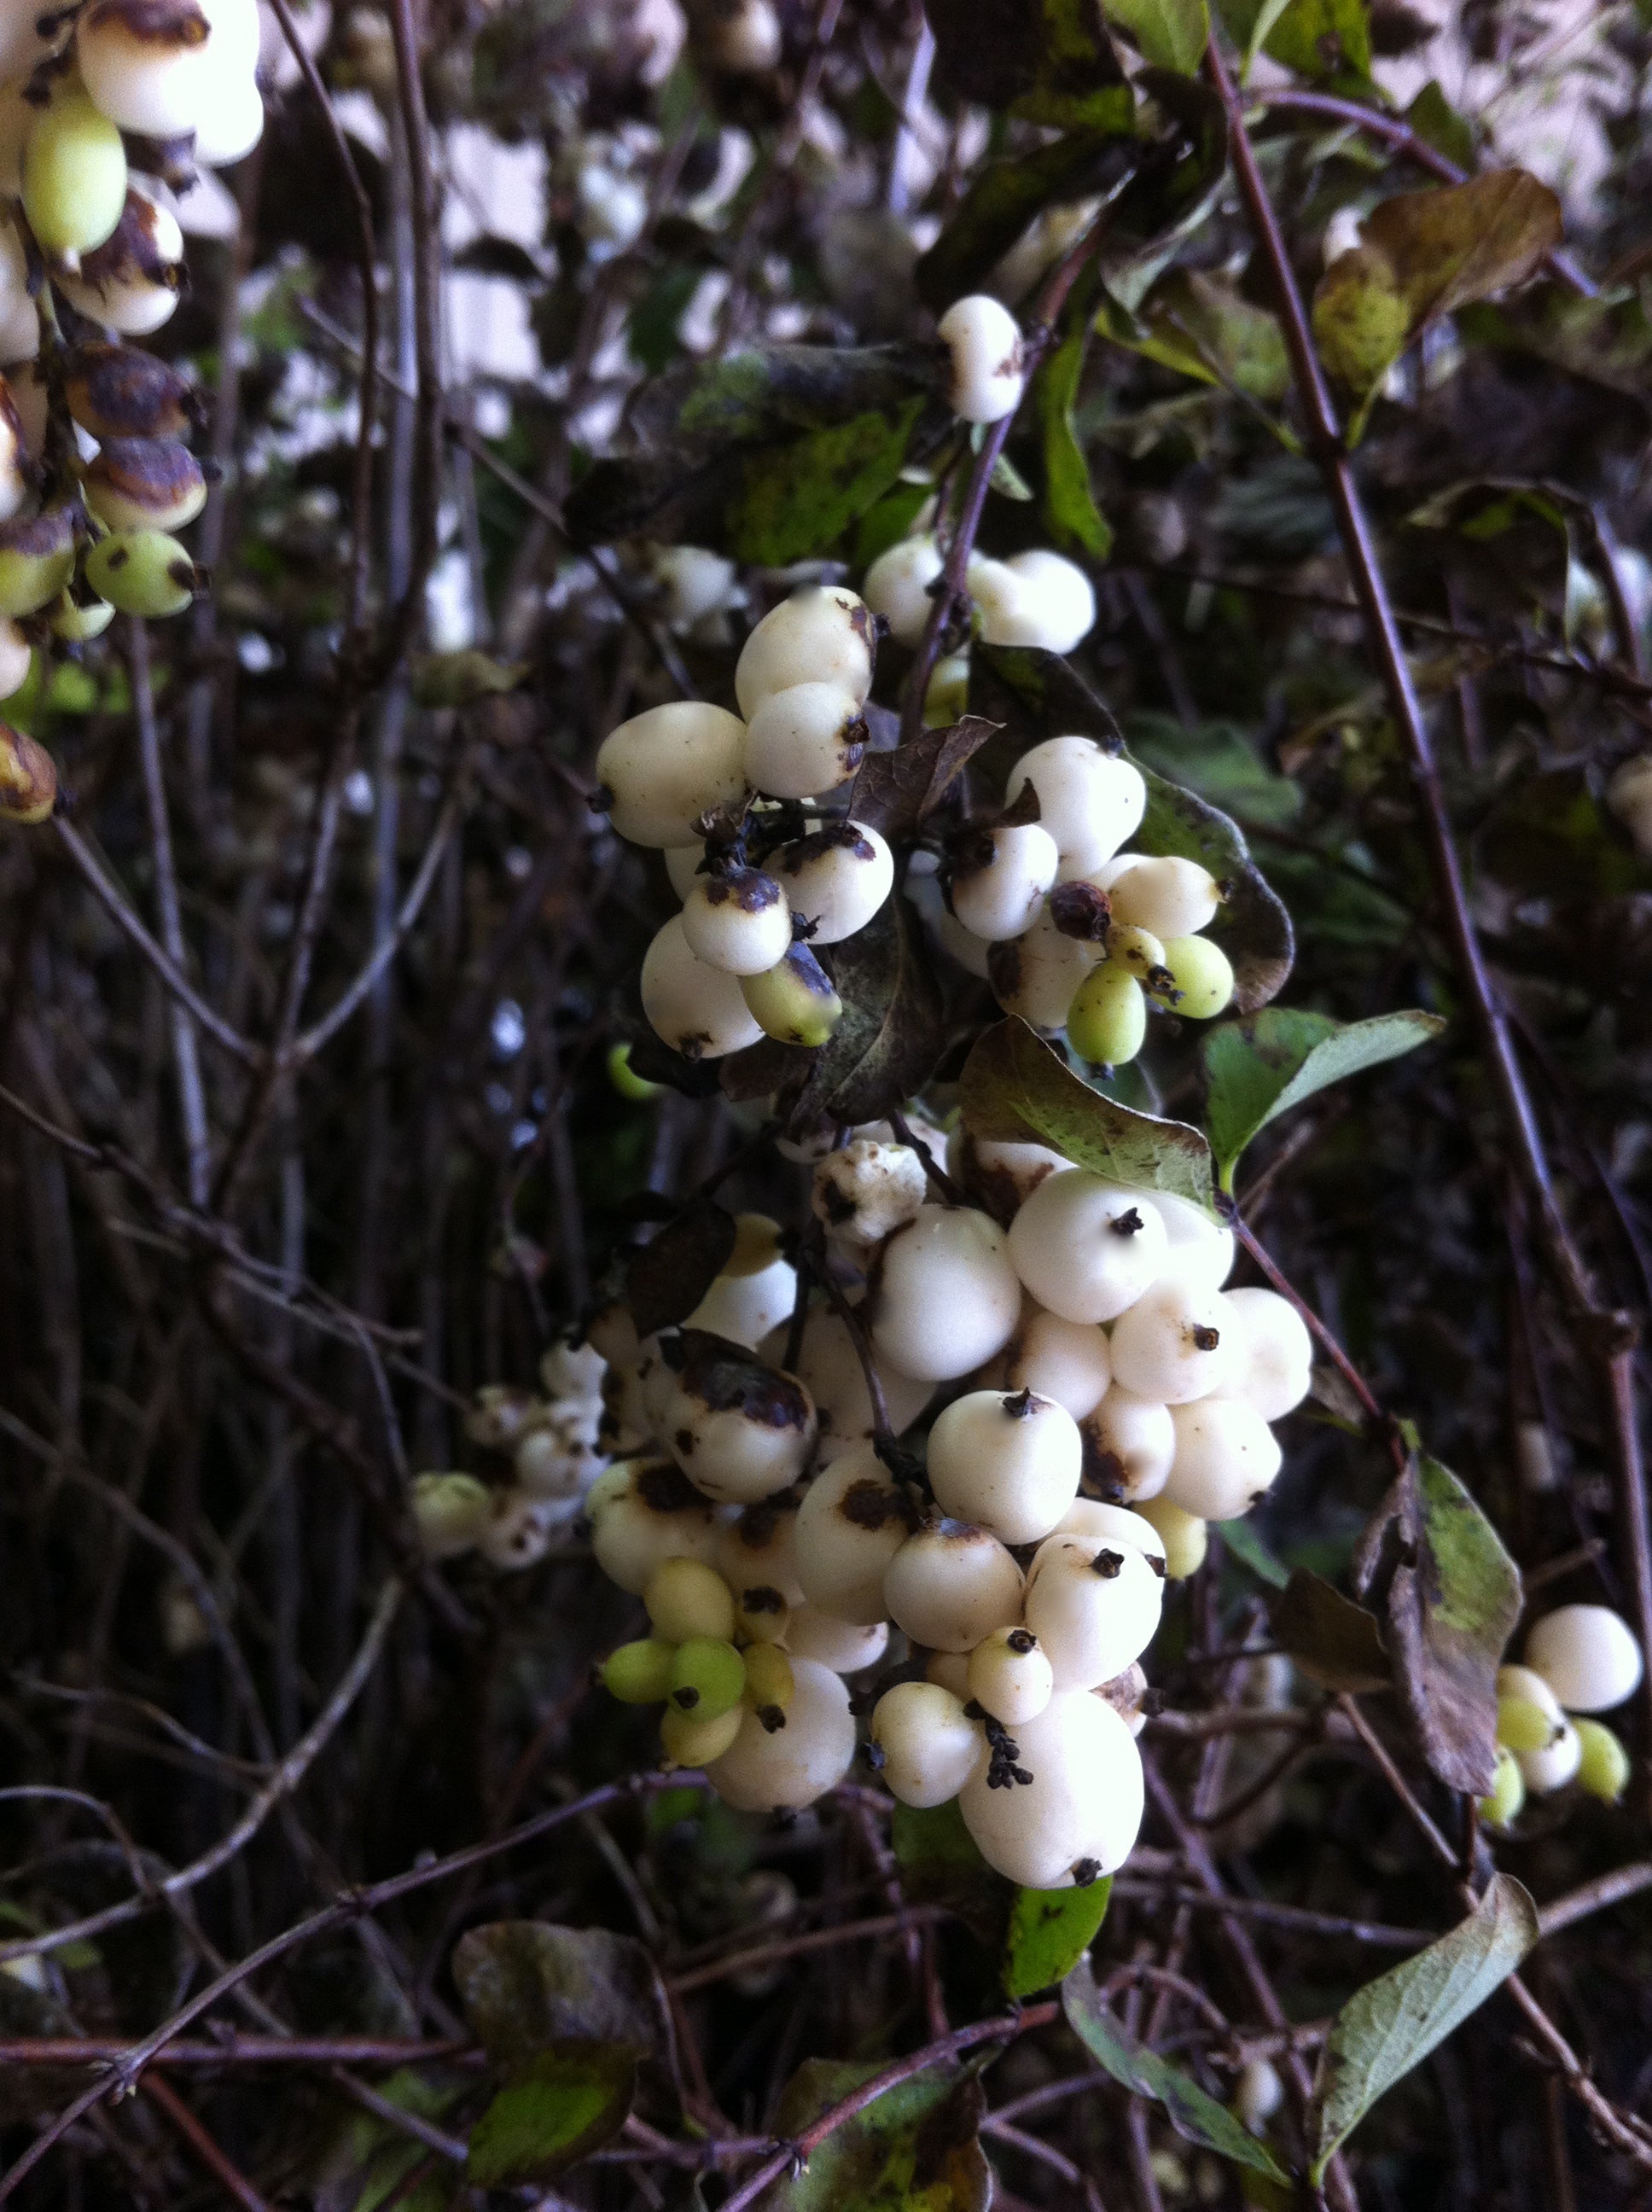
[[1088,1690],[1057,1690],[1008,1743],[1013,1756],[1004,1745],[1002,1761],[982,1761],[958,1798],[989,1867],[1026,1889],[1117,1871],[1143,1805],[1141,1754],[1119,1714]]

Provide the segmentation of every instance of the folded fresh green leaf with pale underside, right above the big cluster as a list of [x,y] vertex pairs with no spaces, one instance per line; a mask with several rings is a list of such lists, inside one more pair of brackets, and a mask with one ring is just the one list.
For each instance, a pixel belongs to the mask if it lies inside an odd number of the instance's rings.
[[1205,1035],[1205,1128],[1223,1190],[1256,1130],[1329,1084],[1378,1068],[1429,1044],[1444,1029],[1437,1013],[1373,1013],[1334,1022],[1305,1006],[1265,1006],[1245,1022]]

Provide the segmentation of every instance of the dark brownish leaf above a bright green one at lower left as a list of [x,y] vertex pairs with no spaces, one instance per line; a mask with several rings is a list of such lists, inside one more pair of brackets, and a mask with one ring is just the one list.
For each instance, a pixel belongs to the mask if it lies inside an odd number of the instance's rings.
[[491,2059],[515,2066],[577,2039],[646,2053],[668,2039],[666,1993],[632,1936],[495,1920],[460,1936],[453,1982]]

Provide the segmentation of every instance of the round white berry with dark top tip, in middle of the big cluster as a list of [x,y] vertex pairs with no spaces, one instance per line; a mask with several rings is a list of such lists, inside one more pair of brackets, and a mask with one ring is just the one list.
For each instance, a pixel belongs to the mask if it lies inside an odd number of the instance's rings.
[[1004,1544],[1037,1544],[1055,1528],[1079,1495],[1081,1460],[1079,1425],[1031,1389],[969,1391],[929,1431],[935,1504]]

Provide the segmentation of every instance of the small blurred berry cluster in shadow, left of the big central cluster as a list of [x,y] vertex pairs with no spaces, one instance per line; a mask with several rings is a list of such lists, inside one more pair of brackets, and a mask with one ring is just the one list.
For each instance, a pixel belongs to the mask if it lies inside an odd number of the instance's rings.
[[482,1451],[509,1458],[511,1480],[489,1486],[475,1475],[416,1475],[414,1520],[427,1557],[480,1551],[500,1571],[544,1557],[551,1537],[579,1517],[608,1464],[604,1374],[606,1363],[590,1345],[553,1345],[540,1363],[542,1398],[504,1383],[475,1394],[464,1433]]

